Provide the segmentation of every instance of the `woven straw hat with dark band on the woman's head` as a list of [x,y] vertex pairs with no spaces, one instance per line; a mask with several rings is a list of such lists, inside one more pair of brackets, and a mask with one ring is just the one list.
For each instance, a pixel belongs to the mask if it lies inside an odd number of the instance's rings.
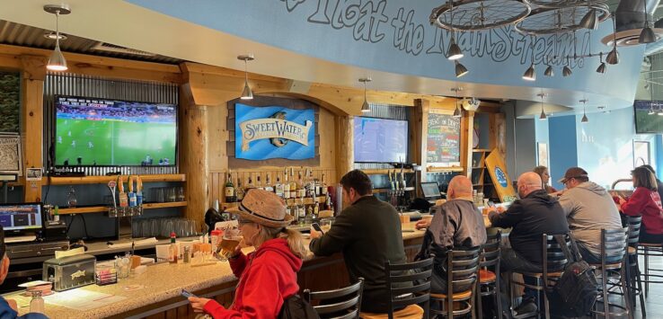
[[228,208],[229,213],[242,219],[273,228],[285,227],[293,217],[286,214],[286,201],[271,191],[249,189],[236,208]]

